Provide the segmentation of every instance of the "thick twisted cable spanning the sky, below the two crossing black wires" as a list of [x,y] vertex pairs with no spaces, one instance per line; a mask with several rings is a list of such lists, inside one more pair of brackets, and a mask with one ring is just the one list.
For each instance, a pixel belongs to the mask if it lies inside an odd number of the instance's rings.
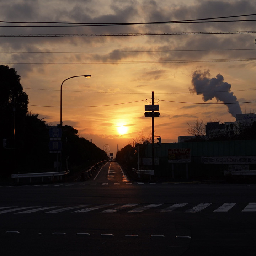
[[[1,27],[1,26],[0,26]],[[202,34],[255,34],[256,31],[218,31],[218,32],[165,32],[165,33],[118,33],[118,34],[1,34],[0,37],[98,37],[98,36],[177,36]]]

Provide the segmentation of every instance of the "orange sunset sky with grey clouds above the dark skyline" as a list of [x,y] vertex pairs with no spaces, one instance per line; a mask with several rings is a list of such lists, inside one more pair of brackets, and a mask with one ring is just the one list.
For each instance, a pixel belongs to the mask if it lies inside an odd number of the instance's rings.
[[[256,112],[256,21],[234,22],[252,14],[251,0],[0,0],[0,64],[16,69],[29,112],[49,125],[60,123],[62,82],[91,75],[63,83],[62,122],[115,155],[151,136],[152,92],[162,143],[197,119]],[[240,15],[251,16],[230,17]]]

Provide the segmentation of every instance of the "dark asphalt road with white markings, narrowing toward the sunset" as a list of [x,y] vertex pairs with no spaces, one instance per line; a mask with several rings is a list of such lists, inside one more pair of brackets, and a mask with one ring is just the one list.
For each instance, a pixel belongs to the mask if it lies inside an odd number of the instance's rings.
[[130,181],[0,187],[1,255],[255,255],[255,184]]

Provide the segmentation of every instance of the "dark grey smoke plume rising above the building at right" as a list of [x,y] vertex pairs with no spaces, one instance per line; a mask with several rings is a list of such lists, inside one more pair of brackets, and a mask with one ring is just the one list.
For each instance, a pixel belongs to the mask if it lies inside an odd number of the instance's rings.
[[192,74],[193,88],[189,88],[189,90],[196,92],[197,95],[202,94],[204,102],[212,100],[213,98],[216,98],[217,102],[222,101],[227,105],[228,112],[233,117],[235,117],[236,114],[242,114],[236,96],[230,91],[231,84],[224,82],[224,78],[221,74],[218,74],[215,78],[210,78],[210,76],[209,70],[203,73],[200,70],[194,71]]

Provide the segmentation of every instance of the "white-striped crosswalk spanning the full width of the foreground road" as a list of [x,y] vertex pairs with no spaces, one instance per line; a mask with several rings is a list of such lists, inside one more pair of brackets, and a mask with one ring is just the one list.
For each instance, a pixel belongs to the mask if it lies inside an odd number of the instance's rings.
[[74,206],[2,206],[0,214],[57,214],[57,213],[227,213],[256,212],[256,203],[128,203],[128,204],[79,204]]

